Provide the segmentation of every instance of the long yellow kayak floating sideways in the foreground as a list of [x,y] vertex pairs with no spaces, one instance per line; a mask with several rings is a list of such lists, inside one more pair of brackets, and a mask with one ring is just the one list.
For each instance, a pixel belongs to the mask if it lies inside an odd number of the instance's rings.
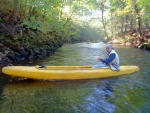
[[94,79],[130,74],[139,70],[137,66],[120,66],[120,71],[92,66],[7,66],[2,72],[15,77],[42,80]]

